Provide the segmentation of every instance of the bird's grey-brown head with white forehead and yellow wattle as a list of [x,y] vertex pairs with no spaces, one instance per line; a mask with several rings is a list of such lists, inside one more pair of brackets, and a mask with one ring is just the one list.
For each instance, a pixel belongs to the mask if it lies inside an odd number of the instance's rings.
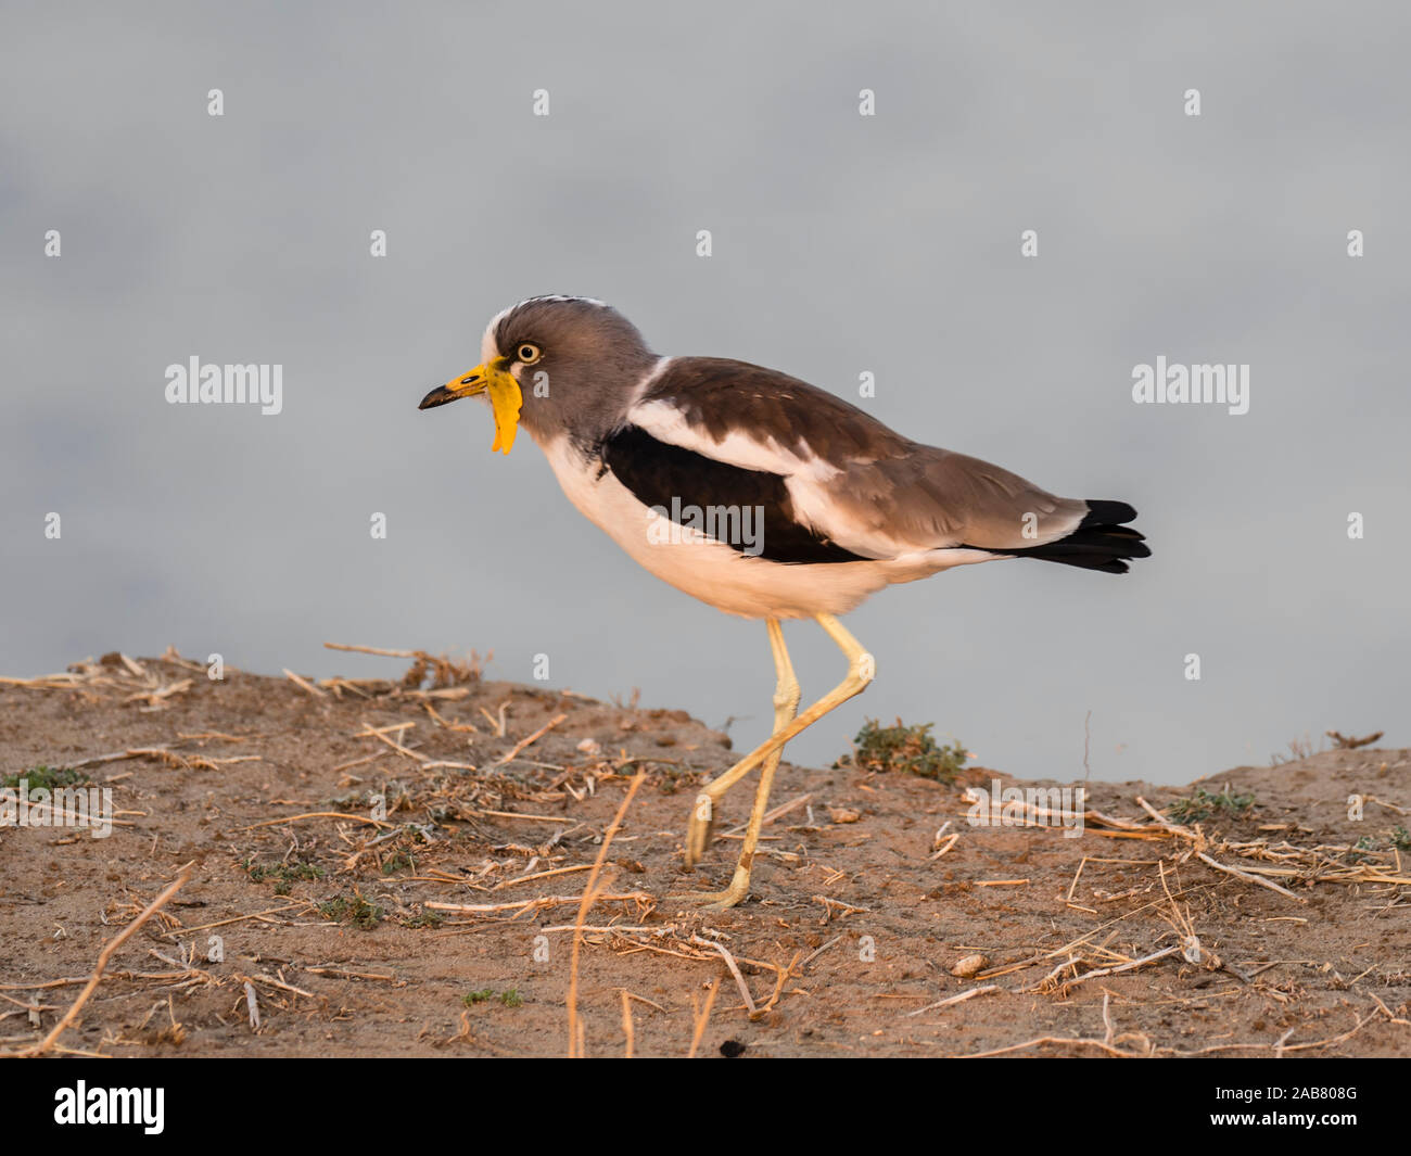
[[480,364],[437,385],[420,409],[485,395],[495,415],[491,450],[509,453],[521,423],[539,440],[591,440],[619,423],[631,387],[656,361],[617,309],[584,296],[533,296],[485,326]]

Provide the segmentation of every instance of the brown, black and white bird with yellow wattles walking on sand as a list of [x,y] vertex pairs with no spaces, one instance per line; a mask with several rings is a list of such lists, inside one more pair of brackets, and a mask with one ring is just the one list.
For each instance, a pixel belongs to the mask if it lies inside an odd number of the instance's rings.
[[[1062,498],[1009,470],[896,433],[866,411],[777,370],[724,357],[666,357],[621,312],[547,295],[501,311],[480,364],[422,398],[432,409],[490,402],[491,450],[519,426],[563,493],[638,565],[727,614],[763,620],[775,662],[773,730],[706,783],[684,861],[701,862],[720,800],[759,768],[729,884],[686,892],[706,909],[749,895],[751,868],[785,744],[859,694],[873,656],[840,615],[893,583],[955,566],[1040,559],[1126,573],[1147,558],[1123,501]],[[799,710],[782,622],[811,618],[847,675]]]

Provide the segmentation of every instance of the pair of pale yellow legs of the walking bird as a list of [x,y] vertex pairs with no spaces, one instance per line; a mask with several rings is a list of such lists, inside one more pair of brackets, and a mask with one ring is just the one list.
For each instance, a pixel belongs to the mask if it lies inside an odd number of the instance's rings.
[[749,826],[745,831],[745,844],[739,853],[739,862],[725,891],[691,893],[680,898],[704,902],[714,909],[724,909],[732,908],[749,893],[749,869],[755,861],[759,829],[769,805],[769,790],[773,786],[775,771],[779,768],[785,744],[800,731],[817,723],[830,710],[841,706],[854,694],[861,693],[876,676],[876,665],[872,661],[872,655],[862,649],[858,639],[844,630],[842,622],[831,614],[820,614],[817,621],[847,655],[848,676],[801,716],[794,717],[799,709],[799,682],[789,662],[789,652],[785,649],[783,631],[779,628],[779,622],[772,618],[769,620],[769,642],[775,652],[775,669],[779,672],[779,683],[775,690],[775,731],[765,742],[704,788],[701,795],[697,796],[697,805],[691,813],[691,826],[687,834],[687,864],[694,864],[696,858],[706,850],[706,843],[710,837],[710,820],[720,796],[742,776],[755,769],[755,766],[763,764],[763,769],[759,773],[759,788],[755,792],[755,805],[749,814]]

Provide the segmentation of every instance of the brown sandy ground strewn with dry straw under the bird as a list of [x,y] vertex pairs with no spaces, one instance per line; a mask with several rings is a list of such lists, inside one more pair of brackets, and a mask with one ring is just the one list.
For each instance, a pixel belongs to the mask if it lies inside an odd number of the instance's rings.
[[579,898],[643,772],[586,917],[587,1054],[1411,1052],[1407,751],[1213,775],[1253,805],[1178,830],[1137,799],[1189,788],[1094,783],[1079,837],[969,823],[967,786],[1015,785],[983,768],[785,764],[752,898],[713,913],[672,895],[724,885],[738,853],[749,782],[683,868],[693,786],[732,761],[722,734],[466,672],[401,685],[387,662],[389,683],[312,690],[175,656],[0,685],[4,773],[111,755],[78,773],[121,823],[0,830],[0,1047],[44,1039],[192,864],[51,1050],[564,1054]]

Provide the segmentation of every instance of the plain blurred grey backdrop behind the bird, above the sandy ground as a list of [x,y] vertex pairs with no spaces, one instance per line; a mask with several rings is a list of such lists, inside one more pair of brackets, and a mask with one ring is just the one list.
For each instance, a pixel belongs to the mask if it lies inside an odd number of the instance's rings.
[[[1089,710],[1103,779],[1407,742],[1407,7],[0,7],[0,672],[175,644],[399,673],[340,641],[528,682],[543,652],[552,686],[762,738],[763,625],[638,570],[480,405],[416,411],[492,313],[564,292],[660,353],[854,401],[872,370],[909,436],[1140,511],[1126,577],[875,597],[878,682],[792,761],[866,716],[1026,776],[1081,776]],[[168,405],[192,354],[282,363],[284,414]],[[1134,405],[1158,354],[1249,363],[1250,412]],[[842,676],[786,637],[806,702]]]

